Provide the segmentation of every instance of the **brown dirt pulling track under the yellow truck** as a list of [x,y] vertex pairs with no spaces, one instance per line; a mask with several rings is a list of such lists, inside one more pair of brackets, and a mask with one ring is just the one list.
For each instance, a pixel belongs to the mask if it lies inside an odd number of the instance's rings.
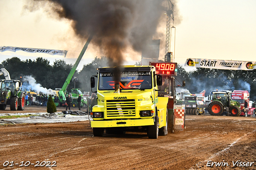
[[[256,169],[256,119],[252,117],[186,115],[184,132],[169,132],[158,139],[140,132],[94,137],[89,121],[2,126],[0,134],[0,169]],[[206,166],[223,160],[228,166]],[[6,161],[9,165],[14,161],[12,168],[3,166]],[[20,166],[22,161],[34,165]],[[35,167],[36,161],[42,165],[56,161],[56,166]],[[232,161],[251,162],[251,166],[233,166]]]

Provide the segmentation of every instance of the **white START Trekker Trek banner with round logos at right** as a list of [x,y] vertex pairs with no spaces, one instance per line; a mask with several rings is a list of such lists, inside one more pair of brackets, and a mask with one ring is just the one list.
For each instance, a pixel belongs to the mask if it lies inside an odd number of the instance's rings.
[[256,61],[233,61],[218,59],[196,59],[189,58],[184,66],[202,67],[208,69],[225,69],[225,70],[253,70],[256,69]]

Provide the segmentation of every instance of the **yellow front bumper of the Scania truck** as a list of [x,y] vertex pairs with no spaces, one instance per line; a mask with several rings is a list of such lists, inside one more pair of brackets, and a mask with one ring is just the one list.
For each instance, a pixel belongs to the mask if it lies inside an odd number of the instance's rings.
[[115,121],[91,121],[91,127],[137,127],[154,125],[154,119],[133,119],[133,120],[115,120]]

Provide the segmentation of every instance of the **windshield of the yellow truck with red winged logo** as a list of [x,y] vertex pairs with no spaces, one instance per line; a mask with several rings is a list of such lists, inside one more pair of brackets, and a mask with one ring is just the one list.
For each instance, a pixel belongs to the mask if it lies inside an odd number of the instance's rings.
[[[113,73],[99,74],[99,90],[114,90]],[[121,72],[120,89],[151,89],[151,71],[125,71]]]

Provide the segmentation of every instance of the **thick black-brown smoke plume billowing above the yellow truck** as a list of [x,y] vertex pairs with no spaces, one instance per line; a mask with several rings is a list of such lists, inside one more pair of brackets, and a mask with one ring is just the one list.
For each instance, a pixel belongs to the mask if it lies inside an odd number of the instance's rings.
[[[44,8],[72,20],[76,34],[104,51],[110,66],[123,63],[122,52],[131,45],[142,51],[156,34],[166,0],[28,0],[26,8]],[[50,9],[50,10],[49,10]]]

